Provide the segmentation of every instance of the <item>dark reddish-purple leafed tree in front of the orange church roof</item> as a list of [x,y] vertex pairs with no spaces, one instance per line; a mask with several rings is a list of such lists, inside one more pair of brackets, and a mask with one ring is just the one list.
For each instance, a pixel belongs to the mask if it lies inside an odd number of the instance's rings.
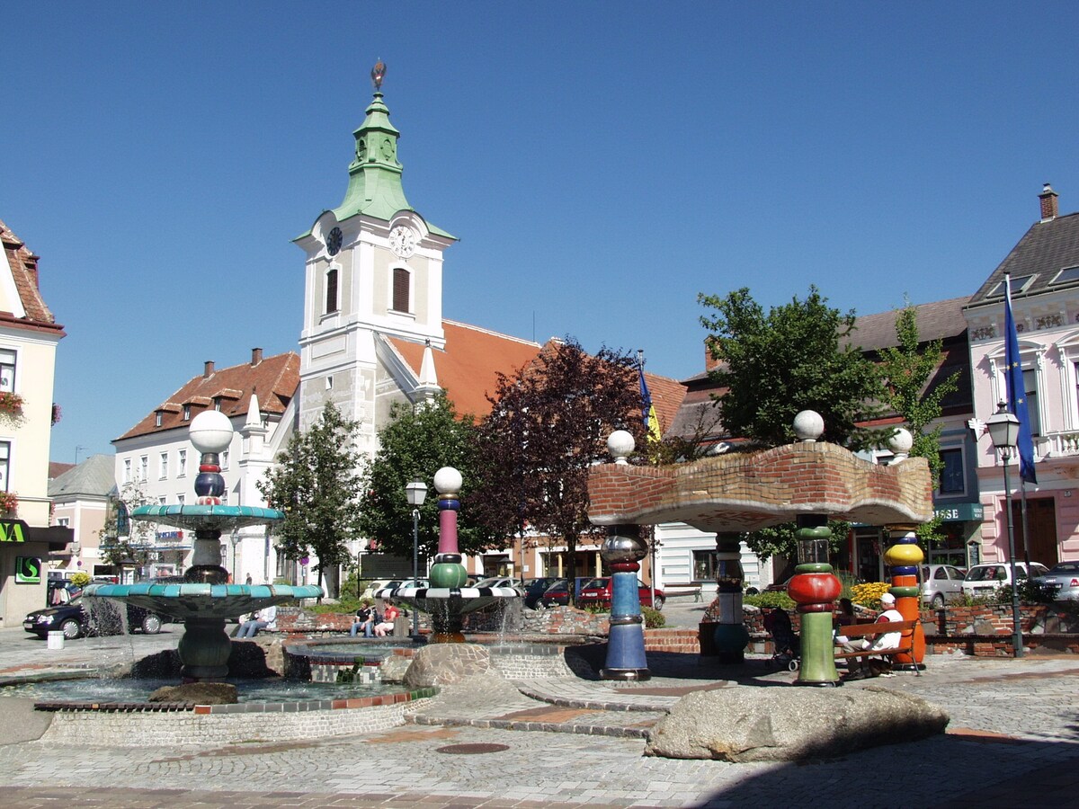
[[480,425],[482,519],[504,531],[527,524],[563,544],[572,582],[577,540],[598,533],[588,521],[588,467],[610,460],[615,429],[630,430],[643,447],[636,360],[606,347],[589,355],[568,338],[517,375],[500,375],[489,398],[492,411]]

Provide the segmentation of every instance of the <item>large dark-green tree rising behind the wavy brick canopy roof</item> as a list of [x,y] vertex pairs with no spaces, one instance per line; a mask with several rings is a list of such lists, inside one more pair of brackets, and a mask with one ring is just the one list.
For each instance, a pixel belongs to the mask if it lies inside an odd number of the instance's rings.
[[715,398],[728,435],[779,447],[795,439],[794,416],[816,410],[827,441],[857,450],[879,440],[858,426],[873,415],[880,383],[873,364],[847,342],[852,311],[842,315],[816,287],[804,301],[794,298],[767,314],[748,288],[697,300],[718,313],[700,323],[720,361],[710,376],[726,388]]

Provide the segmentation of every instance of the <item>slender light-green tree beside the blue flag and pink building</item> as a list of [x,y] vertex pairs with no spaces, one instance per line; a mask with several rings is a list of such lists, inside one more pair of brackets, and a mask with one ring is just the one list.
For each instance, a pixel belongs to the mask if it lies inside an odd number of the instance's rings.
[[[877,370],[884,387],[884,401],[903,416],[913,439],[911,455],[929,462],[933,489],[940,483],[941,425],[932,423],[941,417],[944,397],[959,386],[959,372],[940,376],[944,358],[943,341],[931,340],[925,345],[918,338],[918,313],[907,305],[896,318],[898,345],[882,348]],[[941,539],[940,518],[918,527],[918,536],[927,544]]]

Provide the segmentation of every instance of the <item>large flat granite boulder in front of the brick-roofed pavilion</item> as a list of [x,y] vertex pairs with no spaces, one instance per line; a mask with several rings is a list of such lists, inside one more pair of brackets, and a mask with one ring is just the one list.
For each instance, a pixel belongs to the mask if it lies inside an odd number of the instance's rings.
[[887,688],[726,688],[694,691],[648,735],[645,755],[787,762],[844,755],[944,731],[948,715]]

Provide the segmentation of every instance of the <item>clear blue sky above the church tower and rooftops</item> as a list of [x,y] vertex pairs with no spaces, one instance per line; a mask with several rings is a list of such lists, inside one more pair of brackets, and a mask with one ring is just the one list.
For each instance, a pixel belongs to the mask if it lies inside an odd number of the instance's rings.
[[702,369],[698,292],[972,293],[1079,208],[1074,3],[4,5],[0,219],[68,337],[52,458],[204,360],[295,349],[303,255],[387,64],[445,315]]

